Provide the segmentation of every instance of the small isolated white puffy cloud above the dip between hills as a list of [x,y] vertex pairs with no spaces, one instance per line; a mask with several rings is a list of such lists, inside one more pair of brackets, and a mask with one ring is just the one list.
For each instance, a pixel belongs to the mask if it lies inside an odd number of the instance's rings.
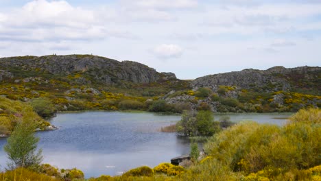
[[155,47],[152,52],[158,58],[179,58],[182,56],[183,49],[178,45],[162,44]]

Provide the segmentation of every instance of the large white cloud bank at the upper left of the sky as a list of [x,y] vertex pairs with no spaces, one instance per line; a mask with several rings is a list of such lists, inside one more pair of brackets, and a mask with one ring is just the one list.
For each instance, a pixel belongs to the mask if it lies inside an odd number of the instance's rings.
[[115,12],[73,7],[67,1],[31,1],[0,14],[0,40],[60,41],[136,38],[126,29],[108,25]]

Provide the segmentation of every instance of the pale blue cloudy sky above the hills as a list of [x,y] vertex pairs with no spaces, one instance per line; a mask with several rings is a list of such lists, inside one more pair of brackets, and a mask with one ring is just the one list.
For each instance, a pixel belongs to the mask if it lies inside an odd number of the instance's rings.
[[0,0],[0,57],[132,60],[180,79],[321,66],[321,0]]

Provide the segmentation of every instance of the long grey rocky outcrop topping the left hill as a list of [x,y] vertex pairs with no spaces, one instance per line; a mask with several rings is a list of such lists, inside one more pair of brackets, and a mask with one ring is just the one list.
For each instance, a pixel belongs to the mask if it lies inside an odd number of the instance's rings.
[[[156,82],[164,77],[163,74],[158,73],[155,69],[138,62],[119,62],[117,60],[91,55],[0,58],[0,69],[6,70],[7,72],[10,71],[10,69],[21,70],[19,76],[23,76],[23,71],[28,73],[34,72],[36,75],[41,73],[59,76],[75,73],[86,75],[75,79],[75,82],[79,84],[88,84],[91,83],[91,81],[101,82],[103,84],[119,84],[121,81],[150,83]],[[0,71],[0,80],[3,79],[3,72],[5,71]],[[170,76],[175,77],[173,74]]]

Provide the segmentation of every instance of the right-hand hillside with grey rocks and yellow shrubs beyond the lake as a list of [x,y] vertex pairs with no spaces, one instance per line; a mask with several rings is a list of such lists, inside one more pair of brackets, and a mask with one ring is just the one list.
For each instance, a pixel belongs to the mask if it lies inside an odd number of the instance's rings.
[[320,107],[321,67],[245,69],[199,77],[191,87],[162,99],[213,112],[296,112]]

